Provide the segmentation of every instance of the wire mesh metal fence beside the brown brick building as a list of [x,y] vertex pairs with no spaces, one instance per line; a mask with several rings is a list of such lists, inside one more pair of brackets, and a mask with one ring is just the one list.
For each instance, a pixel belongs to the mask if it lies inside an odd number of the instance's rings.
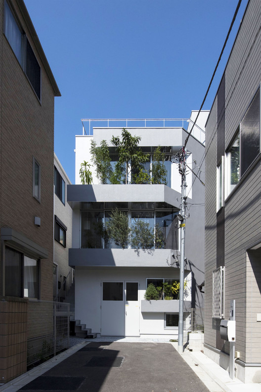
[[27,366],[44,361],[69,347],[70,304],[28,302]]

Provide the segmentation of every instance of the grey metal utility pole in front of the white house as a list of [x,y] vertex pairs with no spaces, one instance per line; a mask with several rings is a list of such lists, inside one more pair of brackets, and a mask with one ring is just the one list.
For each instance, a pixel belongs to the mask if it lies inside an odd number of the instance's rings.
[[184,264],[185,264],[185,221],[186,221],[186,150],[183,147],[179,156],[179,173],[181,174],[181,207],[178,219],[180,221],[180,263],[179,263],[179,317],[178,343],[179,353],[183,352],[183,313],[184,313]]

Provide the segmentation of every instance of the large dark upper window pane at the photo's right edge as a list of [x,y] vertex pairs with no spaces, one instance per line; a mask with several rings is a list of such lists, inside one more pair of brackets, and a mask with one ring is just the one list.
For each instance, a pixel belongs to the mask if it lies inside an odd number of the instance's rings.
[[260,89],[240,123],[240,175],[260,153]]

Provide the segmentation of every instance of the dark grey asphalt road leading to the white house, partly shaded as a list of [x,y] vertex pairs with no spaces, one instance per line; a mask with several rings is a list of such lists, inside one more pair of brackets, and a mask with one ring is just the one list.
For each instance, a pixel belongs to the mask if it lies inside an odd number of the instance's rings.
[[172,344],[122,342],[89,343],[21,390],[209,392]]

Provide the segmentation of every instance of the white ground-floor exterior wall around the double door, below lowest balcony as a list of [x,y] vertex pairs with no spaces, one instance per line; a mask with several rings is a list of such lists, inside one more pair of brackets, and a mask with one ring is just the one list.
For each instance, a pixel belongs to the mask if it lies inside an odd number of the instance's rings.
[[[86,269],[77,267],[75,271],[75,296],[78,298],[75,304],[75,318],[91,328],[92,332],[100,333],[101,328],[101,282],[114,281],[139,282],[139,303],[144,299],[146,290],[146,278],[175,278],[179,279],[179,270],[163,272],[159,269],[128,269],[128,271],[111,269]],[[185,298],[189,300],[189,297]],[[117,322],[117,320],[116,320]],[[176,335],[177,327],[173,330],[164,329],[164,312],[150,313],[140,311],[140,334],[153,335]],[[189,327],[189,320],[185,323],[185,328]]]

